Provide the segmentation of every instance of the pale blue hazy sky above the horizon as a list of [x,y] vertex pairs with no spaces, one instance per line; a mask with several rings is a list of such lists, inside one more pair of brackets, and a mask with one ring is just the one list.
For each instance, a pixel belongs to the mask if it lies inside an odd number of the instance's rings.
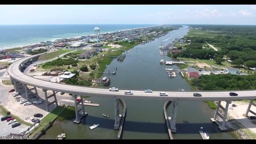
[[256,5],[0,5],[0,25],[256,25]]

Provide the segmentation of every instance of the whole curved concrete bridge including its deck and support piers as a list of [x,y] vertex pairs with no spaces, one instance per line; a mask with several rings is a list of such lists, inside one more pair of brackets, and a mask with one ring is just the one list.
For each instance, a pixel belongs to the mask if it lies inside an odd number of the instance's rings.
[[[218,106],[215,111],[215,115],[213,118],[211,118],[212,122],[216,122],[219,125],[220,130],[227,130],[226,128],[226,118],[228,113],[228,106],[231,103],[232,100],[244,100],[249,99],[251,100],[247,110],[245,111],[245,116],[247,116],[248,113],[254,113],[254,111],[250,110],[251,106],[256,106],[256,104],[253,103],[253,100],[256,99],[256,90],[243,90],[243,91],[235,91],[238,96],[230,96],[230,91],[199,91],[199,93],[202,94],[202,97],[194,97],[193,93],[198,91],[164,91],[168,94],[168,96],[159,96],[159,92],[163,91],[153,91],[153,93],[145,93],[142,90],[131,90],[133,92],[133,95],[126,95],[124,94],[125,90],[119,90],[118,92],[112,92],[108,89],[103,88],[95,88],[95,87],[85,87],[85,86],[77,86],[77,85],[68,85],[68,84],[60,84],[60,83],[54,83],[49,81],[44,81],[42,79],[37,79],[34,77],[27,76],[22,73],[21,70],[26,69],[26,65],[28,63],[33,63],[33,61],[36,61],[41,54],[31,55],[30,57],[26,57],[23,59],[20,59],[18,61],[15,61],[12,63],[12,65],[9,67],[8,72],[11,77],[11,81],[14,85],[14,89],[16,91],[25,91],[26,98],[28,99],[28,87],[33,86],[35,92],[36,89],[42,89],[45,93],[45,103],[46,103],[46,110],[49,111],[49,105],[52,105],[53,103],[56,103],[58,105],[57,99],[56,99],[56,92],[65,92],[70,93],[74,97],[75,101],[75,123],[79,123],[81,121],[81,118],[87,114],[84,110],[83,105],[83,99],[80,102],[76,101],[77,95],[86,95],[91,97],[108,97],[113,98],[115,100],[115,125],[114,129],[119,129],[119,123],[120,123],[120,117],[119,117],[119,108],[118,108],[118,102],[119,99],[122,98],[147,98],[147,99],[164,99],[166,101],[172,101],[171,105],[171,118],[170,118],[170,126],[171,131],[176,132],[176,123],[175,123],[175,117],[177,113],[177,107],[179,101],[218,101]],[[27,63],[27,64],[26,64]],[[30,89],[32,90],[32,89]],[[47,91],[52,91],[53,94],[47,95]],[[48,99],[54,97],[54,101],[49,102]],[[226,101],[226,107],[222,107],[220,105],[221,101]],[[81,103],[82,108],[78,109],[77,105]],[[219,110],[222,109],[224,111],[224,114],[222,115]],[[79,112],[82,110],[82,114],[79,114]],[[221,121],[217,120],[217,116],[221,119]]]

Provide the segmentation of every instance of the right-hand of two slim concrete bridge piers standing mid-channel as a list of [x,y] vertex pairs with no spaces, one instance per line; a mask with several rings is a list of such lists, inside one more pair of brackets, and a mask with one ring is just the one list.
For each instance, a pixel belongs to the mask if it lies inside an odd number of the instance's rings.
[[179,101],[172,101],[171,107],[171,119],[169,120],[171,126],[171,132],[176,132],[176,115],[177,115],[177,108],[178,108]]

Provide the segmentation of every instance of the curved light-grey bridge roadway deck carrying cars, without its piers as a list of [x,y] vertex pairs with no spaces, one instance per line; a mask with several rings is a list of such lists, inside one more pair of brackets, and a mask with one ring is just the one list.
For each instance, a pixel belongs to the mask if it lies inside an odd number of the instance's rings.
[[[256,99],[256,91],[255,90],[244,90],[244,91],[234,91],[238,94],[238,96],[229,96],[230,91],[165,91],[168,96],[159,96],[159,92],[162,91],[154,91],[153,93],[145,93],[142,90],[131,90],[133,95],[124,94],[125,90],[119,90],[118,92],[109,91],[108,89],[103,88],[95,88],[95,87],[85,87],[85,86],[77,86],[77,85],[67,85],[54,83],[49,81],[44,81],[42,79],[33,78],[23,74],[19,70],[19,66],[22,62],[30,60],[33,57],[37,57],[37,55],[31,55],[30,57],[26,57],[15,61],[9,67],[9,75],[15,80],[22,82],[24,84],[30,86],[36,86],[45,90],[53,90],[65,93],[72,93],[77,95],[86,95],[92,97],[116,97],[116,98],[153,98],[153,99],[166,99],[172,101],[218,101],[218,100],[242,100],[242,99]],[[117,87],[118,88],[118,87]],[[202,97],[194,97],[193,93],[198,92],[202,94]]]

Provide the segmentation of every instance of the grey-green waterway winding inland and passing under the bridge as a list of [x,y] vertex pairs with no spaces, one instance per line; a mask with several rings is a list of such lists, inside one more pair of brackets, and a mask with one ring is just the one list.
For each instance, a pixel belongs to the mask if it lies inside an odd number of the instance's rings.
[[[159,64],[161,59],[173,60],[166,55],[159,54],[159,45],[172,43],[175,38],[182,38],[188,32],[188,27],[183,26],[178,30],[155,39],[155,41],[140,44],[126,53],[126,58],[120,62],[114,59],[105,69],[105,73],[116,71],[111,76],[109,87],[119,89],[152,89],[154,90],[190,90],[189,84],[179,74],[169,78],[165,68],[178,69],[177,66]],[[55,139],[62,130],[67,134],[67,139],[115,139],[117,131],[114,130],[114,99],[91,97],[87,100],[100,103],[100,107],[85,106],[89,113],[81,124],[73,121],[55,122],[40,139]],[[163,114],[164,100],[157,99],[124,99],[127,107],[122,139],[168,139],[166,124]],[[170,116],[171,109],[167,109]],[[122,108],[120,107],[122,113]],[[174,139],[202,139],[199,135],[200,127],[210,133],[210,139],[235,139],[227,132],[220,132],[218,126],[210,121],[214,110],[205,102],[180,101],[177,111],[177,133]],[[102,113],[110,117],[105,118]],[[94,130],[89,127],[100,124]]]

